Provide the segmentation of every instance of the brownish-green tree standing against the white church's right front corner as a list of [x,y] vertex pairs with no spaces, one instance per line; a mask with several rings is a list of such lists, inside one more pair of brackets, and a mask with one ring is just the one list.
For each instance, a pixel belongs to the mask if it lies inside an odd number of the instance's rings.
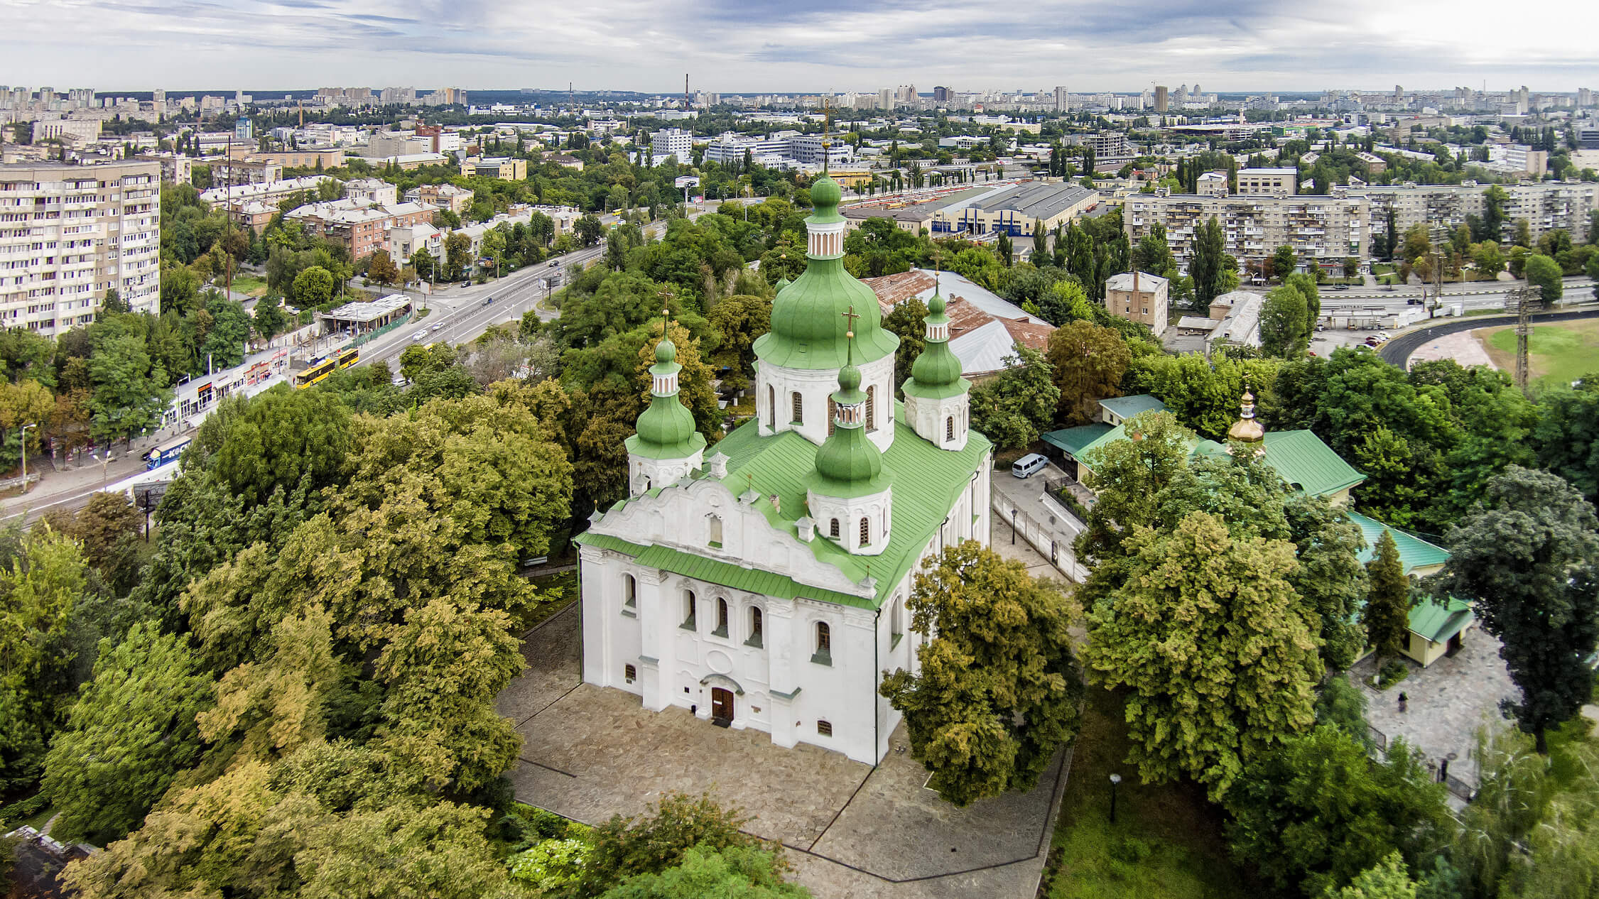
[[1033,789],[1078,729],[1071,605],[1054,582],[964,541],[916,574],[907,608],[932,641],[919,673],[900,669],[879,693],[905,713],[929,787],[958,806]]

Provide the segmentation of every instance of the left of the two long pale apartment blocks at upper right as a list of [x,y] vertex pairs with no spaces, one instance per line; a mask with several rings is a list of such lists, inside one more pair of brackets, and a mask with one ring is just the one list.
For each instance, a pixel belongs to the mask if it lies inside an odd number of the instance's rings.
[[1194,234],[1215,218],[1226,253],[1239,262],[1258,262],[1278,246],[1292,246],[1302,264],[1335,269],[1348,256],[1370,251],[1370,202],[1364,195],[1330,197],[1201,197],[1194,194],[1132,194],[1122,208],[1127,237],[1137,243],[1156,224],[1180,266],[1193,258]]

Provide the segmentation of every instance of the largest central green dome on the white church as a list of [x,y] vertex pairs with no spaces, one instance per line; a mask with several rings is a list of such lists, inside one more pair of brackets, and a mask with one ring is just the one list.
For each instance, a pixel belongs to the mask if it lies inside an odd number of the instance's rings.
[[784,368],[841,368],[847,362],[844,315],[855,310],[855,355],[876,362],[899,349],[883,330],[878,294],[844,270],[841,259],[811,259],[806,270],[772,302],[772,330],[755,341],[755,355]]

